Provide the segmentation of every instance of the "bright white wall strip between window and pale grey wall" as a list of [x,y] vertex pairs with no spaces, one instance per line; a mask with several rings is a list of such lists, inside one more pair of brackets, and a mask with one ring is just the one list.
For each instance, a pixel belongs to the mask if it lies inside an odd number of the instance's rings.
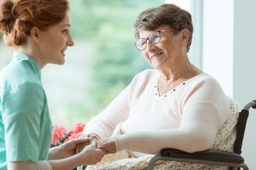
[[233,1],[203,1],[202,69],[233,96]]

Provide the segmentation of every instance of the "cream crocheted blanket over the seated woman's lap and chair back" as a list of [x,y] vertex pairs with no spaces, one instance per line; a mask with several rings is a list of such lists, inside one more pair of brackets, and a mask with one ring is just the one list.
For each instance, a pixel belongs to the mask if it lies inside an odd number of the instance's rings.
[[[238,118],[237,105],[230,99],[231,114],[217,133],[212,145],[214,150],[233,151],[236,140],[236,122]],[[117,128],[118,129],[118,128]],[[115,132],[118,133],[118,130]],[[115,134],[114,134],[115,135]],[[129,157],[127,150],[119,151],[115,154],[104,156],[102,161],[95,166],[88,166],[86,170],[146,170],[152,155]],[[177,161],[157,161],[154,169],[180,169],[180,170],[228,170],[228,167],[209,166],[196,163],[177,162]]]

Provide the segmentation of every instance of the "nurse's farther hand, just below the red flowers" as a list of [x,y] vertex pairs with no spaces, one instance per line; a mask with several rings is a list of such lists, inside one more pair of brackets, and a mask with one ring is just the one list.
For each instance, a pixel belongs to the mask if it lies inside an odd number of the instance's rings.
[[64,144],[55,146],[49,150],[49,160],[63,159],[76,154],[79,144],[87,145],[90,143],[89,138],[72,139]]

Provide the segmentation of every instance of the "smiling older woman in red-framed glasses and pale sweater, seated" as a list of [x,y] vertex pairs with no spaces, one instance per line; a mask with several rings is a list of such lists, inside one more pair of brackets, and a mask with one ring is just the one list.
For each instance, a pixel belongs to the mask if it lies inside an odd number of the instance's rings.
[[[134,27],[135,46],[153,69],[137,74],[89,122],[84,134],[102,139],[97,147],[108,153],[128,150],[133,157],[158,154],[163,148],[187,152],[212,148],[230,116],[230,99],[213,77],[189,62],[191,15],[163,4],[139,14]],[[114,129],[119,133],[105,139]]]

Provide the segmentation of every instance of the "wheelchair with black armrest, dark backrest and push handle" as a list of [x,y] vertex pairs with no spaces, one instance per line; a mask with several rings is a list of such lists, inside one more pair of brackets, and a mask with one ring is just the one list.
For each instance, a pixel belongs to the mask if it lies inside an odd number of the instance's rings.
[[227,166],[230,170],[249,168],[241,156],[241,146],[247,125],[247,117],[250,108],[256,109],[256,100],[249,102],[239,112],[238,121],[236,123],[236,141],[233,152],[224,150],[204,150],[195,153],[187,153],[182,150],[163,149],[160,154],[154,156],[148,163],[148,170],[154,169],[156,161],[183,161],[191,163],[201,163],[208,165]]

